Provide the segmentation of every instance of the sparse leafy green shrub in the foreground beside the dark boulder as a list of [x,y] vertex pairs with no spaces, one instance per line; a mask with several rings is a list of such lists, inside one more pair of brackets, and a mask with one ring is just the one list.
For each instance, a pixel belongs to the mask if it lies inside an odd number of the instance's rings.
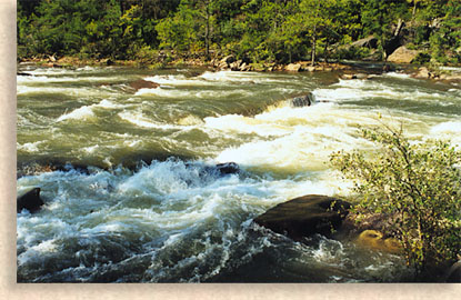
[[461,254],[461,152],[449,142],[410,142],[402,129],[363,130],[379,150],[338,152],[332,164],[352,179],[354,212],[390,216],[390,228],[405,259],[421,274]]

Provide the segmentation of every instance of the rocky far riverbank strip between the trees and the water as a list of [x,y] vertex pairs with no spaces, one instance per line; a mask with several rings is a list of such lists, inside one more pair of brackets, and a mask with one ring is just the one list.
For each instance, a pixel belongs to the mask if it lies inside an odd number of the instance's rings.
[[[244,60],[237,60],[233,56],[214,58],[210,61],[202,59],[176,59],[167,62],[146,60],[111,60],[104,59],[81,59],[77,57],[62,58],[31,58],[23,59],[19,64],[37,64],[46,68],[81,68],[81,67],[132,67],[144,69],[168,69],[168,68],[196,68],[201,67],[210,70],[230,71],[255,71],[255,72],[338,72],[342,79],[368,79],[369,74],[381,74],[390,71],[409,74],[417,79],[428,79],[443,81],[447,83],[461,84],[461,68],[443,66],[420,66],[420,64],[399,64],[387,61],[341,61],[341,62],[317,62],[311,66],[310,61],[297,61],[293,63],[250,63]],[[365,73],[365,74],[363,74]],[[18,71],[18,74],[27,74]]]

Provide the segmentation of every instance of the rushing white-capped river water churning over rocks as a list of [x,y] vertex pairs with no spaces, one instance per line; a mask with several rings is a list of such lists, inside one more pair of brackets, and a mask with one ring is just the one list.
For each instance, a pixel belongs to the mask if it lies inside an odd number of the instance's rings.
[[[18,213],[21,282],[404,281],[398,256],[251,221],[293,197],[348,194],[328,158],[370,149],[360,128],[461,144],[461,88],[400,73],[21,70],[18,192],[46,200]],[[139,79],[161,86],[134,90]],[[289,104],[309,91],[315,104]],[[214,168],[230,161],[241,172]]]

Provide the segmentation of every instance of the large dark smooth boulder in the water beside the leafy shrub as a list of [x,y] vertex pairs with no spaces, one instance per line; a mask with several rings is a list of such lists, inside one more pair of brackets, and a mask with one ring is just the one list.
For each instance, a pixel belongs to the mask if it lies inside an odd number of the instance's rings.
[[349,202],[337,198],[308,194],[269,209],[254,222],[293,240],[315,233],[330,236],[332,229],[341,226],[350,207]]

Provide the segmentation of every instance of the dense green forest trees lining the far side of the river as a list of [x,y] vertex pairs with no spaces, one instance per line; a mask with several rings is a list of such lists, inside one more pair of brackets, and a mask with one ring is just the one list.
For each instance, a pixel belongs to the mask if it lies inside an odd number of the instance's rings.
[[[461,62],[459,0],[19,0],[17,24],[19,59],[381,60],[397,41],[423,62]],[[375,51],[350,47],[370,36]]]

